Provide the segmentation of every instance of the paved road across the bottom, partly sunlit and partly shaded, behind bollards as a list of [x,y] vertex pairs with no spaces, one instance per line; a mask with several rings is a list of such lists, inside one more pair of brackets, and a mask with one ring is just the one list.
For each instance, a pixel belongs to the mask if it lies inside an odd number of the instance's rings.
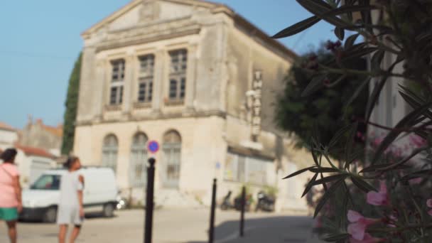
[[[157,210],[154,215],[153,242],[205,243],[209,226],[208,209]],[[311,237],[310,217],[292,217],[268,213],[247,213],[245,236],[239,238],[239,212],[217,211],[215,243],[271,242],[300,243]],[[56,225],[21,222],[19,243],[57,242]],[[77,242],[143,242],[143,210],[125,210],[116,217],[89,217]],[[6,227],[0,224],[0,242],[8,242]]]

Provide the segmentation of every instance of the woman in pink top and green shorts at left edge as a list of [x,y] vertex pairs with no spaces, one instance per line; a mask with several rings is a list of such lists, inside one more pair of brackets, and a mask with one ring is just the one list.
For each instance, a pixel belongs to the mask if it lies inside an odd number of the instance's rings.
[[16,149],[8,148],[1,153],[0,164],[0,220],[8,226],[11,243],[16,243],[16,221],[18,213],[23,210],[21,203],[21,185],[19,173],[15,166]]

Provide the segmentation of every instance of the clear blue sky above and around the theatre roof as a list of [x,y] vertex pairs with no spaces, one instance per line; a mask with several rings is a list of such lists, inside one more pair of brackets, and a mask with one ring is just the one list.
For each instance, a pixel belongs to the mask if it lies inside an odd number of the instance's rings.
[[[218,1],[218,0],[215,0]],[[0,1],[0,121],[21,128],[27,115],[63,122],[68,78],[82,48],[80,33],[129,0]],[[294,0],[219,0],[263,31],[274,34],[311,16]],[[305,53],[335,39],[320,22],[282,42]]]

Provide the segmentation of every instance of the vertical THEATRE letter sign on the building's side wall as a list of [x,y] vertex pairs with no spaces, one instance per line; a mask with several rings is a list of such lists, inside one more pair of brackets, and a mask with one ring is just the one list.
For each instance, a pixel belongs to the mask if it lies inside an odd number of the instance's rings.
[[254,72],[252,83],[252,140],[257,141],[257,136],[261,132],[261,91],[262,91],[262,72]]

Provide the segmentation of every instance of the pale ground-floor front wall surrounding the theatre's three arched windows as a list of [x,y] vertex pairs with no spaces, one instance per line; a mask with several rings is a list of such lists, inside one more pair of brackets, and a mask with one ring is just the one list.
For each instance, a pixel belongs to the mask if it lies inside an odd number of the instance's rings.
[[[162,143],[163,134],[175,130],[182,136],[180,189],[207,190],[205,183],[197,183],[216,176],[216,163],[222,161],[226,149],[220,137],[223,120],[219,117],[200,119],[166,119],[158,121],[129,121],[95,126],[79,126],[76,130],[75,154],[85,165],[100,165],[102,141],[108,134],[114,134],[119,141],[117,178],[121,188],[129,188],[129,155],[132,137],[142,131],[148,139]],[[156,168],[163,168],[161,151],[156,154]],[[163,171],[156,173],[156,186],[160,187]],[[209,185],[210,185],[209,184]]]

